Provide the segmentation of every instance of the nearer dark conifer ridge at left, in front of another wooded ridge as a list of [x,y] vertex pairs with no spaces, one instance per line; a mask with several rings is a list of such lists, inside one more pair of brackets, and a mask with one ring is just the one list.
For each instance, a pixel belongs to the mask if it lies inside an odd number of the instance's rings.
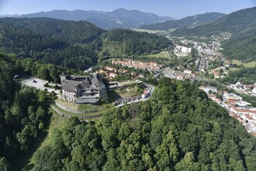
[[0,33],[1,51],[19,58],[37,58],[45,63],[77,69],[97,61],[93,48],[70,45],[15,26],[0,25]]

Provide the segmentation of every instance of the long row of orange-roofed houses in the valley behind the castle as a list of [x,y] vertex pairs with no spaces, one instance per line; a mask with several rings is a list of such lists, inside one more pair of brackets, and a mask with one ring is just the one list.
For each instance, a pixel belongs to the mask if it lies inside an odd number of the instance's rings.
[[111,61],[113,65],[122,65],[123,67],[128,68],[138,68],[138,69],[146,69],[149,72],[158,72],[162,65],[157,64],[156,62],[142,62],[142,61]]

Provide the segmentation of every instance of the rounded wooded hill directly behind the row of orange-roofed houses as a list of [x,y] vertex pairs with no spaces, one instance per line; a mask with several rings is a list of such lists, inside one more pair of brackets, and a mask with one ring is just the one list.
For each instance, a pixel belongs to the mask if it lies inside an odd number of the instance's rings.
[[132,30],[111,30],[103,34],[102,54],[120,57],[122,54],[156,54],[172,46],[172,42],[156,34]]

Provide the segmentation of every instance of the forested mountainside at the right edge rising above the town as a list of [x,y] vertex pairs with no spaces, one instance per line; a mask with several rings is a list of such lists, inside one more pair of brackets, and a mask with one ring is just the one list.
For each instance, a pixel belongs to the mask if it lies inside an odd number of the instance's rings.
[[175,30],[175,36],[205,36],[223,32],[232,33],[230,40],[223,42],[223,54],[240,61],[256,60],[256,7],[242,9],[217,19],[213,23]]

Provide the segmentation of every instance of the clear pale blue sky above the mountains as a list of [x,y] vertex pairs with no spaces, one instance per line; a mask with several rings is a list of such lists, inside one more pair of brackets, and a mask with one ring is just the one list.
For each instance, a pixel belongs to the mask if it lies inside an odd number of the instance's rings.
[[205,12],[230,13],[253,6],[256,0],[0,0],[0,15],[53,9],[110,11],[124,8],[181,19]]

